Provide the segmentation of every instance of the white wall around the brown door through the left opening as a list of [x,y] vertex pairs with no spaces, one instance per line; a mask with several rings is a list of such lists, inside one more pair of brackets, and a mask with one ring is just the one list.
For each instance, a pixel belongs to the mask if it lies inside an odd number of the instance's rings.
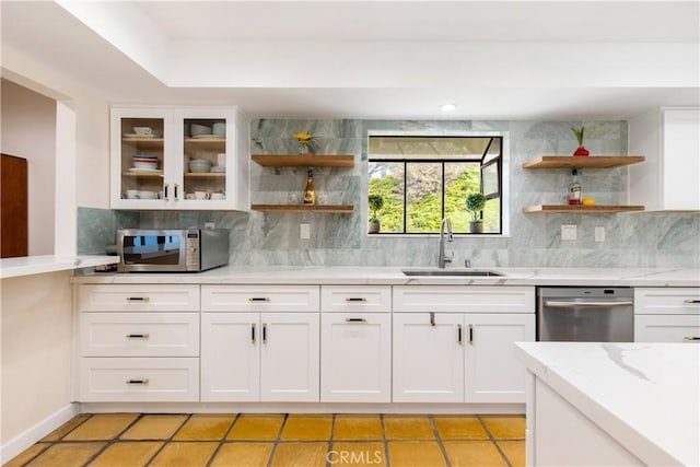
[[27,160],[28,254],[54,254],[56,101],[2,80],[0,149]]

